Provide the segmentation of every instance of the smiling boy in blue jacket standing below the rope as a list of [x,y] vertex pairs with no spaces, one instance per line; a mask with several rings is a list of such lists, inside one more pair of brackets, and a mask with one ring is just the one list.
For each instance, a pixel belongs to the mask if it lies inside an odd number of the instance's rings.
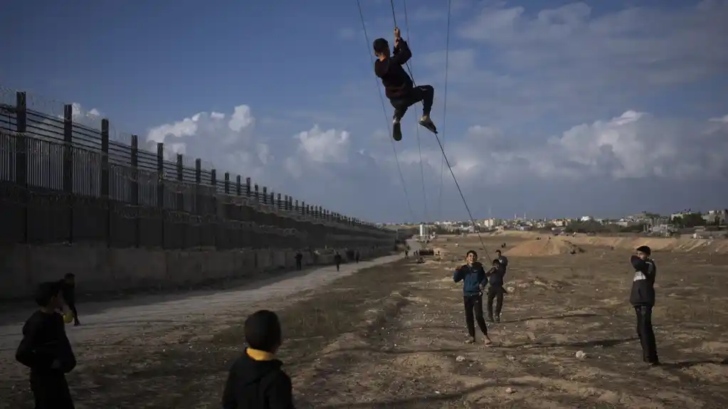
[[467,252],[466,260],[467,264],[460,266],[453,274],[454,282],[462,281],[465,324],[467,325],[467,333],[470,335],[466,342],[467,344],[475,342],[475,322],[473,321],[478,321],[480,332],[485,337],[485,344],[489,345],[492,341],[488,337],[488,327],[486,327],[486,320],[483,318],[483,289],[488,284],[488,277],[486,277],[486,271],[483,270],[483,265],[478,263],[478,253],[470,250]]

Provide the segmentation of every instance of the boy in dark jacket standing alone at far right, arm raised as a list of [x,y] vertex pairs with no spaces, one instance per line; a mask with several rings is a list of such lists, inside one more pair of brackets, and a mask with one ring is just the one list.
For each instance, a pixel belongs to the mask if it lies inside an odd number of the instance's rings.
[[657,266],[650,258],[652,250],[647,246],[637,247],[637,254],[630,256],[630,264],[635,269],[632,279],[630,303],[637,317],[637,336],[642,345],[642,360],[649,365],[660,365],[657,357],[657,341],[652,330],[652,308],[654,307],[654,278]]

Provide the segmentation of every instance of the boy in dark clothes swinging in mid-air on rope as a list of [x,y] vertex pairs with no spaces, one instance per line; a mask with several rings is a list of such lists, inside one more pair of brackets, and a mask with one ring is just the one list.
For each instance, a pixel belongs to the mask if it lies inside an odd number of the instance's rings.
[[399,28],[395,28],[395,49],[389,55],[389,42],[385,39],[374,40],[374,55],[377,60],[374,63],[374,72],[381,78],[384,91],[389,102],[395,107],[394,130],[392,137],[395,140],[402,140],[402,125],[400,124],[405,112],[410,106],[422,102],[422,118],[419,124],[426,127],[430,132],[438,133],[438,129],[430,119],[432,111],[432,100],[435,98],[435,89],[431,85],[414,86],[414,82],[407,74],[402,65],[412,57],[412,52],[407,41],[402,39]]

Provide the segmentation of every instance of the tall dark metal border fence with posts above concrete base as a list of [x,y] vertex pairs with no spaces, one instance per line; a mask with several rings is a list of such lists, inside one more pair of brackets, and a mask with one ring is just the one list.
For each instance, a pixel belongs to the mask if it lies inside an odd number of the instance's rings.
[[[395,232],[298,202],[250,178],[169,160],[0,88],[0,241],[163,249],[375,247]],[[12,100],[14,99],[14,100]],[[60,104],[58,104],[60,105]],[[52,111],[52,110],[50,110]]]

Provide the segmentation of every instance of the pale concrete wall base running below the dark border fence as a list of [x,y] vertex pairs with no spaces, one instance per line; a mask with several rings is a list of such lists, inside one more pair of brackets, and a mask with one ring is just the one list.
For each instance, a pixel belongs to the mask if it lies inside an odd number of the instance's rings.
[[[362,249],[362,258],[389,254],[391,247]],[[340,250],[344,256],[343,249]],[[316,257],[333,263],[333,252]],[[143,287],[194,285],[215,279],[261,279],[296,267],[295,250],[147,250],[84,245],[0,247],[0,300],[25,298],[39,282],[76,274],[81,293]],[[304,253],[304,266],[314,258]]]

